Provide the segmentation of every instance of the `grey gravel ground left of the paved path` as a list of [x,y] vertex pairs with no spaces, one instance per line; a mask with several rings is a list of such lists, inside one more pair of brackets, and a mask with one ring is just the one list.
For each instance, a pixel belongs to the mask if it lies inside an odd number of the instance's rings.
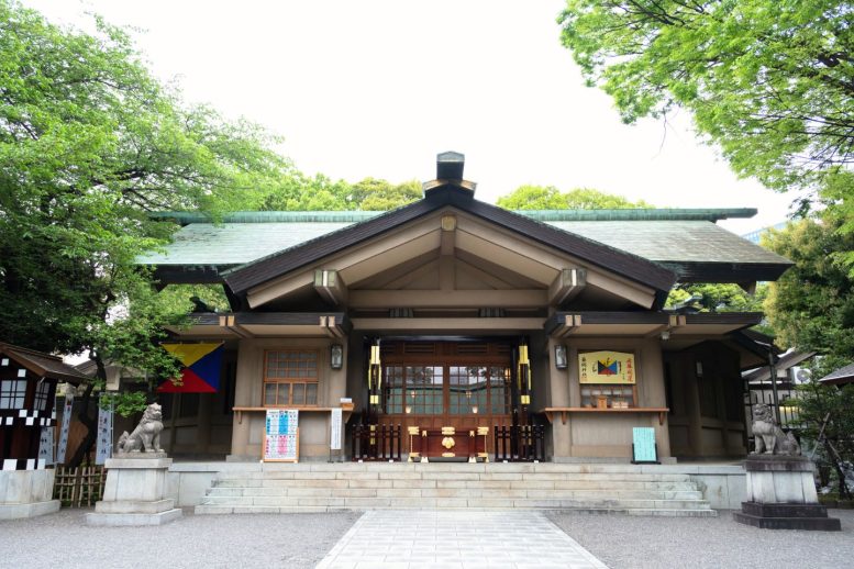
[[152,527],[90,527],[91,510],[0,522],[0,567],[312,568],[362,515],[193,515]]

